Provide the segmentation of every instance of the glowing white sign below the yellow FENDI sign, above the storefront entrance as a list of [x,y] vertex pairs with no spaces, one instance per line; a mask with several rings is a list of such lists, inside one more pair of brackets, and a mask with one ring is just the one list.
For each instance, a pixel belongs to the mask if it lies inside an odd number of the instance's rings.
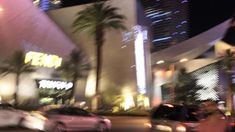
[[47,89],[71,89],[73,87],[72,82],[58,81],[58,80],[36,80],[38,88]]

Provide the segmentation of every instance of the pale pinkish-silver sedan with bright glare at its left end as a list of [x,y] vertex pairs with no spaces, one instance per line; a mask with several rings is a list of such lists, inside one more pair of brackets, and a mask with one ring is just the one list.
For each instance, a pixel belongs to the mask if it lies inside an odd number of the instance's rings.
[[25,118],[24,125],[30,129],[49,132],[99,131],[111,129],[111,121],[78,107],[65,106],[47,111],[37,111]]

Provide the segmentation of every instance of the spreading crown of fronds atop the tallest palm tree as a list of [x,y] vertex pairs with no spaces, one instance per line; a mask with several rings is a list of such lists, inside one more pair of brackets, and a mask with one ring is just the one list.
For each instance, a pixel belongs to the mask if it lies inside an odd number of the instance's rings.
[[125,16],[118,14],[119,8],[112,7],[106,2],[96,2],[76,14],[75,21],[72,24],[74,33],[87,31],[94,35],[97,27],[114,28],[126,30],[124,25]]

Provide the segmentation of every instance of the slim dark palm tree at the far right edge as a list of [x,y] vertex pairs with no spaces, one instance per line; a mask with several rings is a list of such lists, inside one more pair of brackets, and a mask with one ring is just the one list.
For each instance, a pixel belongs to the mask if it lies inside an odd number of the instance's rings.
[[232,75],[233,75],[233,66],[235,62],[235,52],[231,51],[231,49],[227,49],[225,52],[225,55],[222,59],[222,65],[223,69],[225,70],[225,73],[228,76],[228,89],[227,89],[227,97],[226,97],[226,103],[227,103],[227,109],[230,112],[234,112],[234,106],[233,106],[233,85],[232,85]]

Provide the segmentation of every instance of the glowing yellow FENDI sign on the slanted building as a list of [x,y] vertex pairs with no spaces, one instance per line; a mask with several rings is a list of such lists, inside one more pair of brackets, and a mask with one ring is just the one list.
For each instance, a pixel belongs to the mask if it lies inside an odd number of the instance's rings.
[[30,63],[33,66],[58,68],[59,66],[61,66],[62,58],[57,55],[30,51],[26,53],[24,62]]

